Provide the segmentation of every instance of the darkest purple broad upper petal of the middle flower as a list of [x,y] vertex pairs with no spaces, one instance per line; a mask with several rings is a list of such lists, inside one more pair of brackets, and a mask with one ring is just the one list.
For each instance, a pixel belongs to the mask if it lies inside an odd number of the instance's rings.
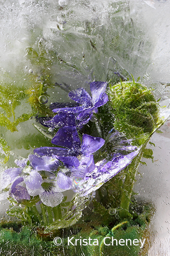
[[51,143],[71,150],[80,148],[80,139],[75,126],[65,126],[58,130]]

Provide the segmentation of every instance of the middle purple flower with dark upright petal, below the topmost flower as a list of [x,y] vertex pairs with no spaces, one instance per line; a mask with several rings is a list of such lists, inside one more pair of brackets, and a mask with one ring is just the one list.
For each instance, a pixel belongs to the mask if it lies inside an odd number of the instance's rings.
[[40,156],[55,156],[65,164],[57,175],[57,184],[61,189],[71,189],[73,177],[85,177],[95,168],[93,153],[104,145],[105,140],[82,136],[82,144],[75,126],[65,126],[59,129],[51,141],[60,147],[41,147],[34,149]]

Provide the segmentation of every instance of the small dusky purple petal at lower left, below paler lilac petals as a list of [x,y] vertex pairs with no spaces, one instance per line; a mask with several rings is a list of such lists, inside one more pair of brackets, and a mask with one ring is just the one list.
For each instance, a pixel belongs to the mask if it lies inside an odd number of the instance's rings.
[[17,200],[30,200],[30,195],[28,194],[28,191],[26,188],[24,188],[23,186],[15,186],[12,190],[11,190],[11,196]]

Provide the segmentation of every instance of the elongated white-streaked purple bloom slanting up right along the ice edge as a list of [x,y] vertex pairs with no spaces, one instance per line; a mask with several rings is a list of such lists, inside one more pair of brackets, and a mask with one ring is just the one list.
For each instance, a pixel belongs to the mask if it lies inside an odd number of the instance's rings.
[[116,153],[108,163],[106,163],[106,160],[99,162],[96,164],[96,168],[83,179],[74,179],[74,192],[80,192],[81,196],[85,196],[96,191],[96,189],[99,189],[118,172],[125,169],[125,167],[128,166],[133,158],[139,153],[139,150],[140,148],[127,155]]

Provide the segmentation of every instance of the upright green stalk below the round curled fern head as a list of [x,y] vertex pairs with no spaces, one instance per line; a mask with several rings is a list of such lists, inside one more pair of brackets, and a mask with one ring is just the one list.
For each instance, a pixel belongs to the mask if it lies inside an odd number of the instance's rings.
[[123,183],[123,191],[122,191],[122,196],[121,196],[121,201],[120,201],[120,208],[121,210],[119,211],[119,216],[123,218],[127,218],[129,216],[129,205],[130,205],[130,198],[132,195],[132,190],[133,190],[133,185],[135,182],[135,177],[136,177],[136,172],[139,166],[139,163],[142,159],[144,149],[147,146],[147,143],[149,142],[150,138],[144,143],[142,146],[138,156],[136,156],[132,163],[128,166],[127,168],[127,174],[125,181]]

